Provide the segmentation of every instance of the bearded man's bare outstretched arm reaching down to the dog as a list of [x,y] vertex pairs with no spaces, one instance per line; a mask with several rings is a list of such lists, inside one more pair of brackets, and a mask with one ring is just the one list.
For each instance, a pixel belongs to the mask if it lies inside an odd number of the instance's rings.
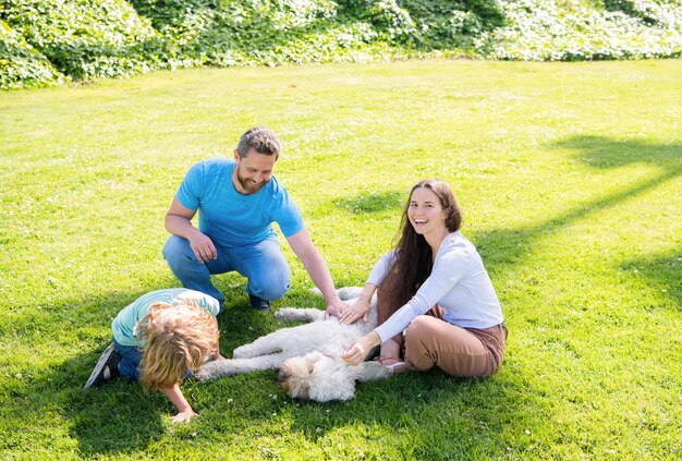
[[308,230],[303,229],[288,236],[287,241],[291,250],[293,250],[296,256],[299,256],[299,259],[301,259],[301,263],[303,263],[303,267],[305,267],[305,270],[310,276],[310,279],[313,279],[315,286],[321,291],[325,303],[327,303],[327,314],[339,317],[346,305],[339,299],[327,264],[322,255],[319,254],[319,251],[313,244]]

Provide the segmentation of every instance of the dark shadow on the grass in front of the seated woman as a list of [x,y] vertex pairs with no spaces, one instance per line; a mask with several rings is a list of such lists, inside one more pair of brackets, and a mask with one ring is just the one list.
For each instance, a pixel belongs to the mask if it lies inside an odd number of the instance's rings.
[[[495,457],[506,450],[508,429],[497,423],[500,402],[506,402],[507,414],[540,415],[546,410],[533,400],[533,389],[522,389],[517,383],[506,373],[487,378],[454,378],[439,369],[403,374],[360,384],[352,401],[300,403],[291,430],[318,442],[339,430],[363,434],[373,428],[373,441],[385,445],[381,456],[389,458],[404,456],[405,449],[406,459]],[[509,408],[509,402],[520,404]]]

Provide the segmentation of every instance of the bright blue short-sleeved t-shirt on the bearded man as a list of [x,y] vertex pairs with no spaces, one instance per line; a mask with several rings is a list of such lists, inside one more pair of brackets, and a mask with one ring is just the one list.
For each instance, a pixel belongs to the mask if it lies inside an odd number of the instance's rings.
[[303,230],[303,218],[287,190],[272,177],[255,194],[242,195],[232,183],[233,159],[216,158],[194,165],[175,198],[184,207],[198,209],[199,230],[216,245],[239,247],[275,236],[277,222],[291,236]]

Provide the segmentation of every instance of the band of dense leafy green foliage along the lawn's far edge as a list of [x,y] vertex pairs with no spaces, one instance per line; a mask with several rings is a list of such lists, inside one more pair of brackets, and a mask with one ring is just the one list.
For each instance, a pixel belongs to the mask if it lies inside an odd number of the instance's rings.
[[679,57],[680,0],[3,0],[0,87],[197,65]]

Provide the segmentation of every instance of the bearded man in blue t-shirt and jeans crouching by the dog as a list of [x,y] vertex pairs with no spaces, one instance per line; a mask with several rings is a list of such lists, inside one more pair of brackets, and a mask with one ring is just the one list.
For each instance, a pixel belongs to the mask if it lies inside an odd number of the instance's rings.
[[[268,311],[270,301],[289,290],[287,259],[272,230],[277,222],[327,303],[339,316],[339,299],[320,253],[287,190],[272,177],[281,153],[279,139],[265,128],[244,133],[232,159],[204,160],[193,166],[166,214],[172,233],[163,256],[185,288],[216,298],[224,296],[210,281],[212,274],[236,270],[248,279],[249,304]],[[198,229],[192,218],[199,211]]]

